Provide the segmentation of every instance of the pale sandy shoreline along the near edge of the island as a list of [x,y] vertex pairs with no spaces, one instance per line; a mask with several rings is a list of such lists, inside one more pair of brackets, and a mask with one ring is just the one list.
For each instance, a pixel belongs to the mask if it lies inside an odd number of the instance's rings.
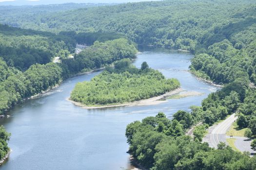
[[178,87],[177,89],[167,92],[165,94],[156,96],[156,97],[152,97],[149,99],[143,99],[140,101],[134,101],[134,102],[126,102],[126,103],[117,103],[117,104],[113,104],[113,105],[101,105],[101,106],[87,106],[85,104],[82,104],[80,102],[75,102],[72,101],[70,98],[68,98],[67,100],[69,102],[72,102],[73,104],[82,107],[84,109],[100,109],[100,108],[109,108],[109,107],[121,107],[121,106],[145,106],[145,105],[156,105],[156,104],[160,104],[163,102],[167,102],[167,101],[160,101],[161,99],[164,99],[166,97],[178,94],[180,92],[182,92],[183,89],[181,87]]

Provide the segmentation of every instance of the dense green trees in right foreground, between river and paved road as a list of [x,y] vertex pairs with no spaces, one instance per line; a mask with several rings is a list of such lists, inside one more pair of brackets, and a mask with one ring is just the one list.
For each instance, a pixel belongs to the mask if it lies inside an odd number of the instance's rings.
[[130,153],[140,165],[151,170],[255,170],[256,157],[218,144],[212,149],[184,130],[200,119],[197,108],[191,113],[178,111],[173,119],[163,113],[129,124],[126,128]]

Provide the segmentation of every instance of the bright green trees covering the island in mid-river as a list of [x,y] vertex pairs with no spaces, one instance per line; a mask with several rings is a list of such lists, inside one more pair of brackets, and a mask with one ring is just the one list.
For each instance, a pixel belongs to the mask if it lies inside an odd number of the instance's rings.
[[78,83],[70,99],[85,105],[107,105],[134,102],[155,97],[179,87],[177,79],[165,79],[146,62],[138,69],[130,59],[108,67],[90,82]]

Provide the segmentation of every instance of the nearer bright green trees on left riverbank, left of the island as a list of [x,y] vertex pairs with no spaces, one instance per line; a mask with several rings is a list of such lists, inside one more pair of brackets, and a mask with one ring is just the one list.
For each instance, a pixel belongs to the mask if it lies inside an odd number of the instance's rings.
[[[3,60],[0,63],[6,66]],[[6,67],[5,73],[0,81],[0,113],[62,80],[62,69],[55,63],[32,65],[25,72]]]

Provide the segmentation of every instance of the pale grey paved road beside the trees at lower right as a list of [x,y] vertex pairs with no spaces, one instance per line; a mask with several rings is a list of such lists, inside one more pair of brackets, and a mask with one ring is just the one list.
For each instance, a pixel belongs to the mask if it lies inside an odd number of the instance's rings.
[[236,120],[235,114],[231,115],[224,121],[218,123],[217,125],[214,125],[209,128],[209,133],[206,137],[203,138],[204,142],[208,142],[209,146],[212,148],[217,148],[217,145],[220,142],[226,141],[226,132],[231,127],[232,123]]

